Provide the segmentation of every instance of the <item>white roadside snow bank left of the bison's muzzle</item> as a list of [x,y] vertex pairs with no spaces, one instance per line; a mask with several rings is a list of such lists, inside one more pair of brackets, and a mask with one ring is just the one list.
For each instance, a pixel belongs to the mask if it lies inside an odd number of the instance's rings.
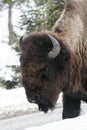
[[5,90],[0,88],[0,119],[23,115],[37,110],[27,101],[24,88]]

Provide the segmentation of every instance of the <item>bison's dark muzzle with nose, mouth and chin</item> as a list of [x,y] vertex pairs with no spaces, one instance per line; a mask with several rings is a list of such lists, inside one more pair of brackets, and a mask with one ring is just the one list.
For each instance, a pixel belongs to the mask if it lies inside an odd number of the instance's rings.
[[25,90],[28,101],[30,103],[37,104],[40,111],[47,113],[49,109],[52,110],[54,108],[54,104],[51,103],[45,96],[35,93],[30,88],[25,88]]

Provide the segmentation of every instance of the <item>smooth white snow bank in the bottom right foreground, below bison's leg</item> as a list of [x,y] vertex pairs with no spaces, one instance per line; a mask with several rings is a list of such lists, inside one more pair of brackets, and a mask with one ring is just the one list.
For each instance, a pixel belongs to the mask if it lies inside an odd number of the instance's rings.
[[25,130],[87,130],[87,115],[31,127]]

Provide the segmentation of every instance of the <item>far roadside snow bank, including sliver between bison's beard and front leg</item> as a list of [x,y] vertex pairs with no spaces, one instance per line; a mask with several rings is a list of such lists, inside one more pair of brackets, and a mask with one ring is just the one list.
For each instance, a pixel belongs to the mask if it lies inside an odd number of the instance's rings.
[[[58,107],[62,106],[61,94],[57,105]],[[28,102],[23,87],[11,90],[0,88],[0,116],[26,110],[35,111],[38,110],[38,106]]]

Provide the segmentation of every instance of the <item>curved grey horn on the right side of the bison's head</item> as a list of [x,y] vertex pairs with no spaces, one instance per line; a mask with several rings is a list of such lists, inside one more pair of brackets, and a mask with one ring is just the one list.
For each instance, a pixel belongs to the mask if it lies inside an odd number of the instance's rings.
[[58,56],[58,54],[60,53],[61,47],[60,47],[60,43],[50,34],[48,34],[49,38],[52,41],[53,44],[53,49],[48,53],[48,57],[53,59],[56,56]]

